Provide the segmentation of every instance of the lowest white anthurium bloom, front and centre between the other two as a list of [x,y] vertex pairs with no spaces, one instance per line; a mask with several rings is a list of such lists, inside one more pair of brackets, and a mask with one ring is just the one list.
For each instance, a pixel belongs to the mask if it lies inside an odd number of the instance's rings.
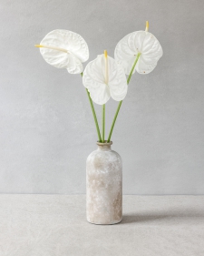
[[105,104],[110,97],[121,101],[128,86],[123,68],[111,56],[99,55],[84,69],[83,86],[88,89],[92,101]]

